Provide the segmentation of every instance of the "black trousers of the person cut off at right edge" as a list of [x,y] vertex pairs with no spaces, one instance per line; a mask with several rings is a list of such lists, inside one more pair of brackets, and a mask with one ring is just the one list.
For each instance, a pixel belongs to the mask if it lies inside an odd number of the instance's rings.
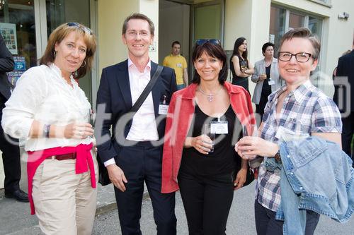
[[[342,119],[343,129],[342,129],[342,148],[353,159],[354,145],[350,147],[352,143],[354,134],[354,112],[350,112],[349,116]],[[354,162],[353,162],[354,167]]]

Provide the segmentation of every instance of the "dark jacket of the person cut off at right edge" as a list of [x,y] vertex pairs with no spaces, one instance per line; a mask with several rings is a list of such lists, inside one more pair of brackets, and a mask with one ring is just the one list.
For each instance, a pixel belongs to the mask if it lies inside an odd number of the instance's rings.
[[[338,59],[336,76],[348,76],[348,82],[350,83],[350,111],[353,112],[354,111],[354,84],[351,83],[354,81],[354,49],[349,54],[341,56]],[[344,95],[346,95],[346,92]],[[336,92],[335,97],[337,96],[338,94]],[[337,98],[344,99],[345,97],[346,96],[337,97]]]

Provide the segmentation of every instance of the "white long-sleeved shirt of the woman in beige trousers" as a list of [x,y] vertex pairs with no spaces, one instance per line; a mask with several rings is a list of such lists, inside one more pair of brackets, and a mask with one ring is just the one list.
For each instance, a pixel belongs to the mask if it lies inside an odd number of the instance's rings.
[[74,78],[71,80],[73,87],[64,80],[60,69],[54,64],[25,71],[3,109],[1,125],[4,132],[14,138],[25,138],[26,151],[91,143],[91,138],[28,137],[33,120],[55,126],[89,121],[91,104]]

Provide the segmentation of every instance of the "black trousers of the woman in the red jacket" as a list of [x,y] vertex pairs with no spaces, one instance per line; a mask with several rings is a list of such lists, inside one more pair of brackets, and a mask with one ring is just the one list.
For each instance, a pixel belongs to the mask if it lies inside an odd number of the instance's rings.
[[234,173],[193,176],[180,171],[178,186],[190,235],[225,234],[234,198]]

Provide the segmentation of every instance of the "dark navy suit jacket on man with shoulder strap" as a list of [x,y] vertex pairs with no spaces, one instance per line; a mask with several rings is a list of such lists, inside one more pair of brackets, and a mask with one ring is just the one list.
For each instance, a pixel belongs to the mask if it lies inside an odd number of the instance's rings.
[[[157,64],[151,62],[150,76],[154,75]],[[152,88],[155,118],[159,139],[164,137],[166,116],[159,115],[159,104],[164,100],[171,100],[176,90],[176,76],[172,68],[164,67],[159,79]],[[103,68],[100,86],[97,92],[96,140],[98,155],[101,162],[114,158],[119,154],[120,141],[126,138],[130,131],[131,122],[120,123],[124,114],[132,108],[132,95],[130,92],[128,62],[123,61],[113,66]],[[108,117],[108,115],[109,117]],[[119,122],[118,122],[119,121]],[[120,126],[122,124],[123,126]],[[112,133],[110,127],[112,126]],[[123,140],[124,141],[124,140]],[[162,147],[162,145],[161,145]]]

